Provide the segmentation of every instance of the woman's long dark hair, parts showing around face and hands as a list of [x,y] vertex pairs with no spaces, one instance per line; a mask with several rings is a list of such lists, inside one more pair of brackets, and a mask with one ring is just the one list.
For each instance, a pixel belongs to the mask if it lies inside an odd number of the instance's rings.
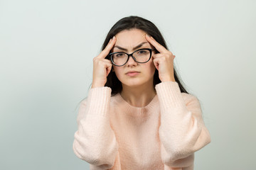
[[[114,35],[117,35],[117,33],[121,32],[122,30],[130,30],[132,28],[143,30],[145,33],[152,36],[157,42],[159,42],[159,44],[163,45],[168,50],[168,47],[166,46],[166,42],[163,36],[161,35],[159,29],[156,28],[154,23],[139,16],[128,16],[117,21],[117,23],[115,23],[114,26],[112,26],[109,33],[107,34],[105,42],[102,45],[102,50],[105,49],[105,47],[107,46],[107,43],[110,41],[110,39]],[[159,52],[156,50],[156,53],[159,53]],[[181,89],[181,92],[188,94],[186,89],[181,84],[181,81],[178,78],[178,74],[176,73],[175,68],[174,68],[174,79],[178,83],[178,86]],[[159,79],[159,72],[156,69],[154,73],[153,84],[154,86],[156,86],[156,84],[159,84],[159,83],[161,83],[161,80]],[[112,89],[112,92],[111,92],[112,96],[122,91],[122,83],[121,81],[119,81],[119,79],[117,79],[117,76],[114,72],[110,72],[110,74],[107,76],[107,82],[105,86],[108,86]]]

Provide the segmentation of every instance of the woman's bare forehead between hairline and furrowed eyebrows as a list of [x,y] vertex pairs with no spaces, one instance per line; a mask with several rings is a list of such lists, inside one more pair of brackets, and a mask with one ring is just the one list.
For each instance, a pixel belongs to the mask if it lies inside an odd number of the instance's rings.
[[117,33],[115,37],[117,41],[115,45],[130,49],[139,43],[147,42],[145,38],[146,33],[143,30],[131,29],[131,30],[122,30],[120,33]]

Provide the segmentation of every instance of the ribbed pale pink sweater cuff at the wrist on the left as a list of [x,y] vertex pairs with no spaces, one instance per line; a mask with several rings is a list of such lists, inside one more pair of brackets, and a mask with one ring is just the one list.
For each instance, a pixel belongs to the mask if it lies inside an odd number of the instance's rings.
[[111,88],[107,86],[90,89],[87,100],[87,113],[107,116],[110,108],[111,91]]

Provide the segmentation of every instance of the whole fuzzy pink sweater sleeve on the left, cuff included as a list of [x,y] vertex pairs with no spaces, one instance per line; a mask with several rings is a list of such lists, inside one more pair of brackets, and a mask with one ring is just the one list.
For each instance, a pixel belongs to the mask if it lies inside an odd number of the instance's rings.
[[110,126],[109,87],[90,89],[78,110],[78,130],[73,151],[94,169],[110,169],[118,152],[118,143]]

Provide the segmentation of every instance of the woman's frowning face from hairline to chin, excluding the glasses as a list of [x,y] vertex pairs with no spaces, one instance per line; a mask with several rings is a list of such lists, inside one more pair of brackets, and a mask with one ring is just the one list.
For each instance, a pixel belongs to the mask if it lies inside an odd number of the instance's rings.
[[[135,50],[142,48],[154,49],[146,40],[145,35],[146,33],[139,29],[122,30],[115,35],[117,41],[112,52],[126,52],[131,54]],[[152,51],[153,54],[154,51]],[[156,67],[154,66],[152,57],[146,63],[135,62],[132,57],[129,57],[128,62],[124,66],[117,67],[113,65],[113,69],[119,81],[122,82],[122,86],[136,87],[145,84],[153,86]]]

